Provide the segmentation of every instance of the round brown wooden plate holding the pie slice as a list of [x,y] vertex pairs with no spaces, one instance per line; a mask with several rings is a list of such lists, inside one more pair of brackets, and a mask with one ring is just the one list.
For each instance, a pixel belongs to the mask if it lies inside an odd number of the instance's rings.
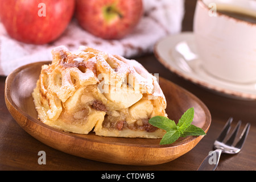
[[[178,158],[203,138],[179,138],[173,144],[159,145],[160,139],[99,137],[93,132],[81,135],[53,129],[38,121],[31,96],[42,65],[49,63],[51,62],[32,63],[12,72],[6,78],[5,101],[15,121],[28,134],[56,150],[100,162],[154,165]],[[164,78],[159,78],[159,84],[166,96],[168,117],[177,122],[189,107],[194,107],[192,124],[207,133],[211,116],[203,102]]]

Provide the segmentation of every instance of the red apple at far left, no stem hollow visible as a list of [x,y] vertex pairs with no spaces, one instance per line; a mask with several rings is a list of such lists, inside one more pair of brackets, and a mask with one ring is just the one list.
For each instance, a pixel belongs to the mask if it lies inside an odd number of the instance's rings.
[[12,38],[45,44],[64,32],[74,9],[75,0],[0,0],[0,19]]

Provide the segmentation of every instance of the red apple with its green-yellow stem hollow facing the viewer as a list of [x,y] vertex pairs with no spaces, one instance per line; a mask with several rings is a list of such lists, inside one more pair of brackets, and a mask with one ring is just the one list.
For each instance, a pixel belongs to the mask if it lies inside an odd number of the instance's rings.
[[143,14],[142,0],[77,0],[82,28],[103,39],[121,39],[133,31]]

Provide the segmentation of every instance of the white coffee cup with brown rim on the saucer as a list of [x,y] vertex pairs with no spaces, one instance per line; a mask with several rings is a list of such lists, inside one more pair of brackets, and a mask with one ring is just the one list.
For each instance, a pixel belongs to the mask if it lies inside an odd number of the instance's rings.
[[226,81],[256,82],[256,23],[219,13],[221,9],[256,17],[255,0],[198,0],[193,31],[203,68]]

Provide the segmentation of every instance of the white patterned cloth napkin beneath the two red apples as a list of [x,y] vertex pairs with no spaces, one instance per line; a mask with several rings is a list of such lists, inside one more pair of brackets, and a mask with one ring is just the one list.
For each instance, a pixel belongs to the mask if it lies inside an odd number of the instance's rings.
[[121,40],[103,40],[84,31],[73,19],[51,44],[36,46],[11,39],[0,22],[0,76],[37,61],[51,60],[53,47],[64,45],[71,51],[90,46],[127,58],[152,52],[154,44],[168,34],[181,31],[184,0],[144,0],[144,15],[135,30]]

